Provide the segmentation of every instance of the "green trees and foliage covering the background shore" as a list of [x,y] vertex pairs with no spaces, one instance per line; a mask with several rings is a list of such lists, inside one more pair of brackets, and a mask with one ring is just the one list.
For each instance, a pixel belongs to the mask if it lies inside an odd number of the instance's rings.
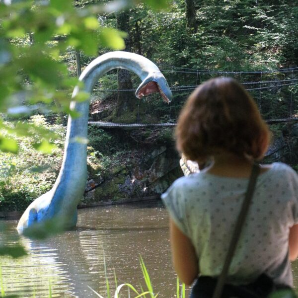
[[[264,72],[235,74],[237,79],[246,82],[297,79],[298,8],[290,0],[278,3],[275,0],[137,2],[134,6],[135,1],[124,1],[126,10],[123,12],[117,5],[115,10],[110,9],[111,1],[66,0],[63,5],[57,0],[47,5],[31,5],[30,1],[13,5],[0,3],[3,20],[0,112],[5,114],[8,107],[15,106],[26,111],[26,115],[22,114],[23,120],[18,120],[15,114],[14,120],[10,115],[9,122],[0,121],[0,150],[10,152],[0,154],[0,211],[23,210],[49,190],[56,179],[66,131],[65,126],[57,123],[65,122],[68,113],[76,116],[75,111],[69,109],[69,103],[77,83],[74,57],[78,52],[83,69],[93,58],[110,51],[108,47],[124,49],[126,46],[125,50],[157,63],[174,89],[195,86],[210,77],[224,75],[210,71]],[[190,15],[191,2],[194,5]],[[161,7],[167,10],[154,9]],[[127,35],[112,28],[126,31]],[[61,36],[62,39],[57,38]],[[266,73],[281,68],[293,68],[293,71]],[[94,93],[93,100],[98,102],[99,108],[98,115],[94,115],[99,120],[175,122],[185,98],[192,91],[173,90],[174,100],[170,106],[155,95],[139,102],[134,92],[130,92],[126,97],[129,103],[120,107],[126,92],[101,92],[119,88],[118,75],[117,71],[110,72],[100,78],[95,88],[98,92]],[[139,82],[135,75],[129,80],[133,87]],[[253,91],[266,118],[297,115],[297,94],[298,84]],[[80,94],[76,99],[84,98],[84,94]],[[54,113],[58,122],[51,121],[52,116],[48,115],[30,119],[31,114],[45,110],[52,110],[51,115]],[[117,134],[90,127],[89,172],[98,178],[98,183],[108,180],[110,174],[120,169],[121,162],[126,165],[134,159],[130,155],[133,146],[141,147],[141,139],[151,140],[151,144],[159,142],[161,136],[155,138],[156,135],[145,131],[141,138],[136,138],[131,134],[125,143],[119,142],[121,138]],[[160,135],[171,139],[172,130],[164,130]],[[51,154],[45,154],[52,149]],[[13,155],[16,152],[18,156]],[[123,183],[123,177],[121,179]]]

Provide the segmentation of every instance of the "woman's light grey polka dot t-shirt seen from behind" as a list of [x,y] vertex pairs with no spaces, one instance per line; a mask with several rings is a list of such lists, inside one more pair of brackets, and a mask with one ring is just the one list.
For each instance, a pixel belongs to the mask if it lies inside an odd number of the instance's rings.
[[[247,188],[247,178],[207,172],[177,179],[161,198],[196,250],[199,271],[219,276]],[[298,224],[298,175],[284,163],[259,175],[227,282],[246,284],[261,273],[293,286],[289,228]]]

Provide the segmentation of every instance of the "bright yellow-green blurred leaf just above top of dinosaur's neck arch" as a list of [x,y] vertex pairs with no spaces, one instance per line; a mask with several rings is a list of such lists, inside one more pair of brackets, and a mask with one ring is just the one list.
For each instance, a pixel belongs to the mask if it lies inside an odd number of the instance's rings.
[[112,48],[114,50],[124,50],[124,37],[127,33],[113,28],[101,28],[99,33],[99,40],[104,47]]

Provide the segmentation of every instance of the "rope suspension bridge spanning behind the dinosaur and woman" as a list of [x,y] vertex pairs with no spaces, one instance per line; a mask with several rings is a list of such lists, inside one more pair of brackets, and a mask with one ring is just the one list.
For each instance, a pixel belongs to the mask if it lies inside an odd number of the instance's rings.
[[[228,72],[189,69],[167,64],[159,64],[158,66],[165,75],[173,92],[173,101],[168,105],[168,115],[163,114],[162,117],[163,119],[166,118],[165,123],[139,123],[139,100],[137,123],[89,121],[88,124],[100,128],[125,130],[174,127],[180,108],[188,95],[202,82],[217,76],[231,76],[240,81],[256,100],[259,110],[268,124],[298,122],[298,67],[269,71]],[[191,84],[188,84],[189,82]],[[95,90],[98,93],[134,91],[135,89],[115,88],[98,88]],[[142,100],[149,105],[147,99]],[[158,108],[161,109],[160,107]],[[154,107],[149,107],[148,109],[154,109]]]

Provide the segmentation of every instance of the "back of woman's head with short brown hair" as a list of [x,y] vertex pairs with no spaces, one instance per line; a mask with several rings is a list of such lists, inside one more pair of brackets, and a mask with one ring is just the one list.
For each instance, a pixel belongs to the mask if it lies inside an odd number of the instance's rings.
[[201,84],[189,96],[176,128],[177,149],[191,160],[204,160],[223,150],[260,159],[269,136],[251,96],[229,77]]

